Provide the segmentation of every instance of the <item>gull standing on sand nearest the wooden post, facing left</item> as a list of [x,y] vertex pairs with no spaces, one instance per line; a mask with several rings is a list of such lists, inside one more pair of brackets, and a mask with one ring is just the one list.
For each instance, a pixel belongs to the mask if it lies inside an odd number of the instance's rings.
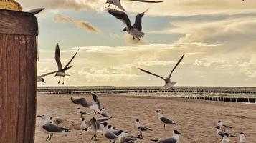
[[57,132],[70,132],[70,129],[62,128],[62,127],[57,127],[54,124],[50,124],[47,122],[46,116],[45,115],[38,115],[37,117],[41,117],[40,122],[39,122],[39,127],[42,130],[42,132],[45,132],[48,134],[48,137],[46,140],[49,139],[49,141],[52,139],[53,133]]

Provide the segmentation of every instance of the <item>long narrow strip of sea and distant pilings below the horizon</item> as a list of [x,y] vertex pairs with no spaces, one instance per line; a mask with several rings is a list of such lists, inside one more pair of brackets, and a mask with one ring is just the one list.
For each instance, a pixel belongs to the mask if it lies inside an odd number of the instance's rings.
[[37,92],[49,94],[101,94],[122,93],[181,93],[181,94],[256,94],[255,87],[174,87],[174,90],[161,87],[39,87]]

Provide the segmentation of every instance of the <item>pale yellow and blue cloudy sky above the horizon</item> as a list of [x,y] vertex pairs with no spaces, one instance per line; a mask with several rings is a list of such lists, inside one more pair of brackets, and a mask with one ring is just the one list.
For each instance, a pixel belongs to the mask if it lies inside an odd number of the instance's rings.
[[[177,86],[256,86],[256,3],[253,0],[163,0],[144,4],[120,0],[131,23],[143,16],[141,39],[105,11],[103,0],[17,0],[24,11],[45,7],[37,15],[38,74],[57,69],[54,49],[60,44],[62,65],[72,61],[66,86],[161,86],[167,77]],[[114,6],[110,6],[114,8]],[[50,75],[39,86],[58,86]],[[62,86],[62,85],[60,85]]]

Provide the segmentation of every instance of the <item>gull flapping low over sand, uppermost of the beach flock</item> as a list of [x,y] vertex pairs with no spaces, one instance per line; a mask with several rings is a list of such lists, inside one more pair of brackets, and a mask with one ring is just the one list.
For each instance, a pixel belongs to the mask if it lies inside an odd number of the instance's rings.
[[100,105],[100,99],[98,97],[97,94],[95,93],[91,93],[92,97],[93,97],[93,103],[89,103],[86,101],[86,99],[84,97],[80,97],[80,98],[77,98],[77,99],[74,99],[71,97],[71,101],[75,104],[80,104],[82,105],[82,107],[85,107],[85,108],[90,108],[90,109],[93,109],[93,111],[96,113],[100,113],[101,112],[101,105]]

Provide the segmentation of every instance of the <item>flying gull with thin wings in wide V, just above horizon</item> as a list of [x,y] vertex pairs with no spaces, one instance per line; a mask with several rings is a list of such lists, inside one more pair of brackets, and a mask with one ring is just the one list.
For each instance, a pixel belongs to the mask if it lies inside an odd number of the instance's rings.
[[147,74],[151,74],[151,75],[153,75],[153,76],[160,77],[160,78],[163,79],[164,82],[166,83],[166,84],[163,86],[163,88],[164,88],[164,89],[170,89],[170,88],[172,89],[172,87],[174,86],[174,84],[176,84],[176,82],[171,82],[171,74],[174,72],[174,70],[176,69],[176,67],[177,67],[177,66],[179,65],[179,63],[182,61],[182,59],[184,58],[184,56],[185,56],[185,54],[184,54],[183,56],[181,56],[181,59],[179,59],[178,63],[174,66],[174,69],[171,70],[171,73],[169,74],[169,77],[166,77],[166,78],[163,78],[163,77],[161,77],[161,76],[159,76],[159,75],[157,75],[157,74],[153,74],[153,73],[151,73],[150,71],[146,71],[146,70],[141,69],[141,68],[138,68],[138,69],[140,69],[140,70],[143,71],[143,72],[146,72]]

